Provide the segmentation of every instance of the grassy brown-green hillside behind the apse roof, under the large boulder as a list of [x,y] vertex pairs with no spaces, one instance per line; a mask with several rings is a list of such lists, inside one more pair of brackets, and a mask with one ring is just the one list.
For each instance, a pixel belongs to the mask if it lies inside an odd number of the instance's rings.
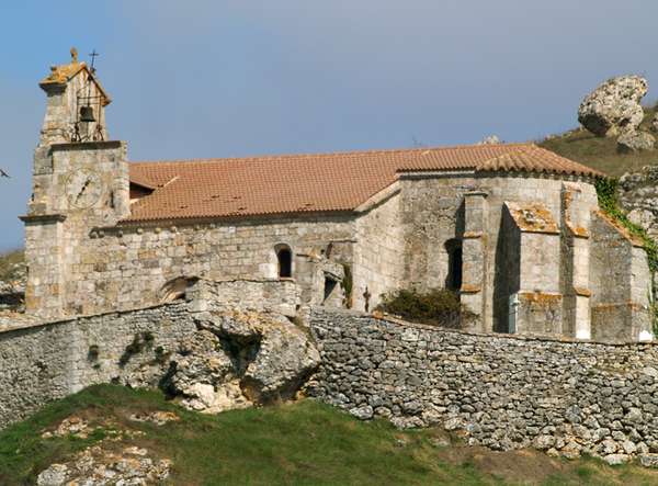
[[[640,128],[649,131],[658,105],[645,106],[645,120]],[[654,134],[656,136],[656,134]],[[565,134],[547,137],[538,143],[563,157],[585,163],[612,177],[635,171],[644,166],[658,165],[658,148],[654,151],[619,154],[615,138],[601,138],[586,129],[574,129]]]

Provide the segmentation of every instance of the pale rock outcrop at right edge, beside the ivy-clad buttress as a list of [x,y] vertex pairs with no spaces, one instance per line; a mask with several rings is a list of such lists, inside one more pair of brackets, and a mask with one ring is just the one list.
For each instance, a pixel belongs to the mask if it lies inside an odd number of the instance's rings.
[[658,239],[658,166],[625,173],[620,179],[619,201],[633,223]]

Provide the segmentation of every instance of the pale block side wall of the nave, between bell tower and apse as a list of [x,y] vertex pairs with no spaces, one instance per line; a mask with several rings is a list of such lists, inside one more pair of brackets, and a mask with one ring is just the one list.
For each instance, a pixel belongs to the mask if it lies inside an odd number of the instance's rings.
[[351,223],[340,216],[79,228],[68,245],[65,309],[69,315],[92,314],[157,304],[162,286],[178,278],[274,279],[274,247],[280,244],[295,256],[295,278],[303,255],[320,253],[331,241],[351,237]]

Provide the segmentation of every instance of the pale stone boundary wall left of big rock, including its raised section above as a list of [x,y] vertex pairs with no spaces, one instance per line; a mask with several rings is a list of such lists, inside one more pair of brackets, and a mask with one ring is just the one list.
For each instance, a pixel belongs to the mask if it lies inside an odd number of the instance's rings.
[[[298,298],[292,280],[200,280],[184,296],[166,305],[54,323],[16,317],[12,326],[0,318],[0,428],[97,383],[118,377],[143,382],[140,364],[156,360],[158,348],[167,353],[194,335],[196,319],[206,310],[286,314],[294,313]],[[128,344],[136,336],[144,341],[145,332],[150,343],[124,368]]]

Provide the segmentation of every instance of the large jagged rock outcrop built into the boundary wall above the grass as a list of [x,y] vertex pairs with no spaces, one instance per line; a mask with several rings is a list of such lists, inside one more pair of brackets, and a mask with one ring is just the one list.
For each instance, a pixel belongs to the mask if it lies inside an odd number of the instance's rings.
[[293,398],[319,365],[309,336],[282,315],[201,313],[196,332],[151,361],[126,365],[133,387],[161,386],[192,410],[214,414]]

